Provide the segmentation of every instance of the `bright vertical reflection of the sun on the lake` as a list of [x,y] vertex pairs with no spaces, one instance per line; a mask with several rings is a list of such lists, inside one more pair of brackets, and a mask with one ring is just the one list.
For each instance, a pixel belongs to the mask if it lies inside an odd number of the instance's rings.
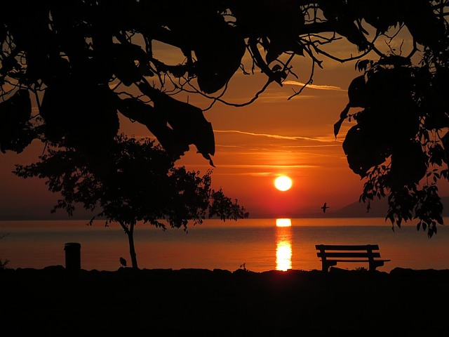
[[292,269],[292,232],[290,219],[276,219],[276,270]]

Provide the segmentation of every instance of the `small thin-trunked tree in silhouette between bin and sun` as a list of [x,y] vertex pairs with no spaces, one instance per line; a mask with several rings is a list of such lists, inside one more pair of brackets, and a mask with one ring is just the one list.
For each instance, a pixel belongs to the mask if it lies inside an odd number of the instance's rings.
[[189,221],[201,224],[208,217],[237,220],[248,212],[237,200],[226,197],[222,189],[210,187],[210,174],[175,167],[175,161],[149,138],[136,140],[123,134],[115,138],[111,151],[102,157],[102,165],[93,164],[71,147],[53,145],[40,161],[28,166],[16,165],[17,176],[45,178],[48,190],[60,192],[62,199],[51,210],[64,209],[72,215],[74,205],[96,211],[106,218],[105,225],[117,222],[128,235],[130,259],[138,268],[134,247],[134,228],[142,221],[166,230],[184,227]]

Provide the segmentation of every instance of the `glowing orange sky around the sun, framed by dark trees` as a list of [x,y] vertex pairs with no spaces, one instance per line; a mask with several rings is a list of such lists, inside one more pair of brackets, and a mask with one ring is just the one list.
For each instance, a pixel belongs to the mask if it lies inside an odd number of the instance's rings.
[[[309,69],[302,71],[304,79],[299,81],[304,82]],[[337,140],[333,136],[333,124],[347,104],[347,86],[357,75],[354,65],[333,64],[316,70],[314,88],[306,88],[291,100],[288,97],[300,86],[272,84],[246,107],[214,105],[205,112],[215,130],[213,185],[238,199],[251,217],[300,217],[319,214],[325,201],[331,209],[357,201],[361,180],[347,165],[342,136]],[[258,78],[236,74],[227,100],[248,100],[264,84]],[[200,102],[189,97],[189,103],[207,106]],[[136,134],[147,132],[129,123],[122,126]],[[210,169],[208,161],[195,152],[192,146],[180,164],[192,170]],[[281,174],[293,180],[286,192],[274,187],[274,178]]]

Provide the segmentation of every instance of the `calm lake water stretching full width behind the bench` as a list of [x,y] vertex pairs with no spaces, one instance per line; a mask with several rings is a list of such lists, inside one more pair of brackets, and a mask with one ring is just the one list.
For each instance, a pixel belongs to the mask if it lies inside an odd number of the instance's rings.
[[[202,225],[165,232],[149,225],[135,230],[140,268],[215,268],[234,271],[321,269],[315,244],[379,244],[382,258],[391,259],[378,270],[394,267],[449,269],[449,229],[440,226],[431,239],[415,225],[401,229],[383,218],[289,219],[291,226],[276,226],[276,219],[237,222],[206,220]],[[447,223],[449,219],[445,219]],[[119,225],[97,221],[1,221],[0,258],[8,267],[42,268],[65,265],[64,244],[81,244],[81,268],[117,270],[123,256],[130,262],[128,240]],[[361,264],[360,267],[368,267]],[[355,269],[356,263],[338,267]]]

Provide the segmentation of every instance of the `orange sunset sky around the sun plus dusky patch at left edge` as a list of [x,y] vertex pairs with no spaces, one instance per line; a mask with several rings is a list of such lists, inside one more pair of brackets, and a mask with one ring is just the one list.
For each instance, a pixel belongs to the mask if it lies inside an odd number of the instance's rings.
[[[347,46],[331,46],[334,55],[349,57]],[[155,48],[165,60],[175,62],[165,46]],[[196,153],[192,145],[178,164],[189,170],[205,172],[213,169],[215,189],[221,187],[228,197],[237,199],[250,213],[250,218],[300,218],[323,216],[321,206],[329,206],[327,214],[358,201],[363,180],[349,169],[342,141],[351,126],[345,122],[335,138],[333,125],[347,105],[347,87],[360,75],[354,62],[340,63],[322,58],[323,69],[314,70],[313,85],[300,95],[288,99],[310,76],[310,65],[298,58],[293,72],[283,86],[271,84],[260,98],[244,107],[216,103],[204,112],[215,131],[215,168]],[[244,103],[262,88],[260,74],[246,76],[236,72],[229,84],[225,100]],[[191,95],[189,103],[203,109],[209,103]],[[121,118],[121,131],[133,136],[152,136],[147,128]],[[41,143],[33,143],[22,154],[0,154],[0,218],[41,218],[51,216],[49,210],[58,195],[48,192],[43,180],[22,179],[11,171],[14,164],[36,161],[43,151]],[[280,175],[293,180],[290,190],[276,190],[274,179]]]

